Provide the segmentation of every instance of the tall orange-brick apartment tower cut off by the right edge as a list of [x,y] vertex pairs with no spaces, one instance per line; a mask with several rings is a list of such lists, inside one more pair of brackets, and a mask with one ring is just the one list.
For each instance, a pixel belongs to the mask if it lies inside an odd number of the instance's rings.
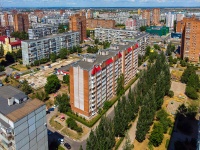
[[192,62],[199,62],[200,20],[194,15],[185,17],[177,23],[177,32],[182,33],[181,57],[188,57]]

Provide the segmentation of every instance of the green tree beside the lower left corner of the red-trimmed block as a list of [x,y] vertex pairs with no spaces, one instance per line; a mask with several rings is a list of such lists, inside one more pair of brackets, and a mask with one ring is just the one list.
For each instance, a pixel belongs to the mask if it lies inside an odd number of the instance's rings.
[[69,96],[67,94],[58,95],[55,98],[55,105],[58,105],[58,110],[62,113],[71,110]]

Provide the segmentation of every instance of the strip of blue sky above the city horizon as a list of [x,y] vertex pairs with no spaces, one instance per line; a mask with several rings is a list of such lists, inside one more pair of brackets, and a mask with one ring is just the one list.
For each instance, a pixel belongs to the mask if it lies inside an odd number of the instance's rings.
[[200,7],[200,0],[0,0],[2,7]]

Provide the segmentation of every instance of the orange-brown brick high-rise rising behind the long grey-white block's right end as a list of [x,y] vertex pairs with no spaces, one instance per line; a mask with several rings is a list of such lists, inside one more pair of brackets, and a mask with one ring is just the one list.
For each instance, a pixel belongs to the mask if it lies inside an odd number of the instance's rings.
[[84,41],[86,36],[86,17],[75,14],[69,18],[69,28],[71,31],[77,31],[80,33],[80,40]]

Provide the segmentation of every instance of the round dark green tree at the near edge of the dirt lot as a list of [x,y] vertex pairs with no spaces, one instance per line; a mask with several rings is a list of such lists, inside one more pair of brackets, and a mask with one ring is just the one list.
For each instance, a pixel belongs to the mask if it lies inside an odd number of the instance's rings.
[[56,75],[50,75],[47,77],[47,83],[44,86],[45,91],[50,93],[55,93],[60,88],[60,81]]

